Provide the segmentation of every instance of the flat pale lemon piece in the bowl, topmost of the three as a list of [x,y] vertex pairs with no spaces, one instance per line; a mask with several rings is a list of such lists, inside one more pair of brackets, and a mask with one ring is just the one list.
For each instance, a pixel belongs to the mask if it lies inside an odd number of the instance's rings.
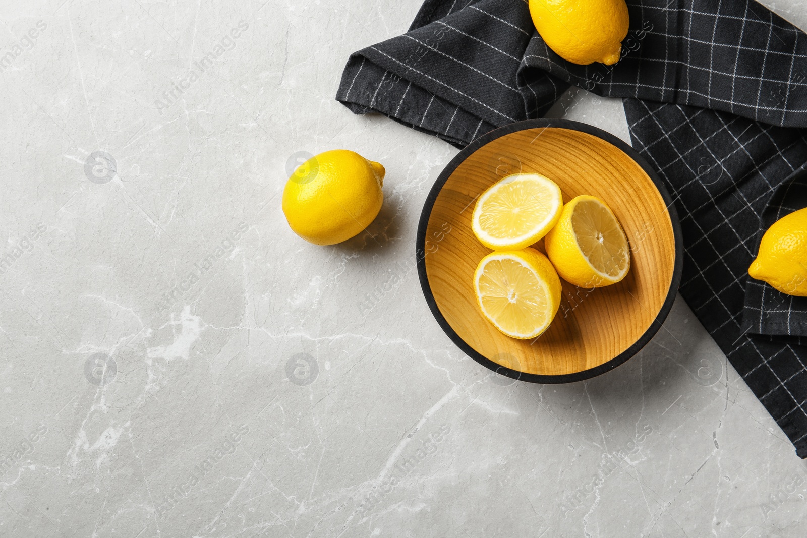
[[554,181],[540,173],[514,173],[483,192],[470,226],[487,248],[519,250],[546,236],[562,209]]

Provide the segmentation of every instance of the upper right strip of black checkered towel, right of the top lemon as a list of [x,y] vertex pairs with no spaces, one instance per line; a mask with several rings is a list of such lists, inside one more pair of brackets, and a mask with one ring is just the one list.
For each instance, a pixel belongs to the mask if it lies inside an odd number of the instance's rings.
[[538,38],[531,64],[603,97],[807,126],[807,36],[753,0],[628,2],[615,65],[575,65]]

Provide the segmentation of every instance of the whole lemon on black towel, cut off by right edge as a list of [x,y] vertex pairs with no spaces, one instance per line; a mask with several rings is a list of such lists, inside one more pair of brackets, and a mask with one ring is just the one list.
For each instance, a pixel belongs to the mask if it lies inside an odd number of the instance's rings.
[[767,229],[748,276],[783,294],[807,297],[807,207],[785,215]]

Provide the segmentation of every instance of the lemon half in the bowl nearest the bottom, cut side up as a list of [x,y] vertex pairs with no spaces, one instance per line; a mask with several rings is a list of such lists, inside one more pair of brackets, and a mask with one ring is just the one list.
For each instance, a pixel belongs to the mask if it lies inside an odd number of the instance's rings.
[[560,306],[558,273],[534,248],[483,257],[474,289],[482,315],[505,335],[521,340],[546,331]]

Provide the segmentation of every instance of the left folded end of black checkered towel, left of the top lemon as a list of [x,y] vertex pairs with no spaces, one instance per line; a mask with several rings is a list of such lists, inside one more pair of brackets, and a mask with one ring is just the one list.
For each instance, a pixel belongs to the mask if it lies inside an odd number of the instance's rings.
[[537,36],[524,2],[478,0],[425,23],[424,12],[441,12],[436,4],[421,8],[416,20],[424,24],[350,56],[337,100],[462,146],[491,128],[543,116],[567,90],[547,73],[519,76]]

